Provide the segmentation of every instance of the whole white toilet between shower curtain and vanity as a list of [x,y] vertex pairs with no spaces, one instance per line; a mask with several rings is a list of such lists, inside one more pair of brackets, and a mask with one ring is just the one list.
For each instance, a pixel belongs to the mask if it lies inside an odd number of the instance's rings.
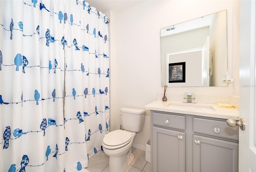
[[120,112],[124,130],[111,131],[102,141],[103,151],[109,156],[109,172],[124,172],[132,163],[132,143],[144,124],[144,109],[121,108]]

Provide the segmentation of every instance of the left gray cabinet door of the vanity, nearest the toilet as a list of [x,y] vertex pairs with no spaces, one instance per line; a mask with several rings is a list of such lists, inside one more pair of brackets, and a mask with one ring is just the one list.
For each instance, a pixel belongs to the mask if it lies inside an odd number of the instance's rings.
[[152,171],[185,171],[185,133],[152,127]]

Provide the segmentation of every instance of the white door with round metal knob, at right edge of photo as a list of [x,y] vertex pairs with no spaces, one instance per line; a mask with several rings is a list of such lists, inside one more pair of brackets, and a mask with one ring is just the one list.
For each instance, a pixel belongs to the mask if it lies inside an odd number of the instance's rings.
[[256,2],[240,1],[240,118],[239,171],[256,172]]

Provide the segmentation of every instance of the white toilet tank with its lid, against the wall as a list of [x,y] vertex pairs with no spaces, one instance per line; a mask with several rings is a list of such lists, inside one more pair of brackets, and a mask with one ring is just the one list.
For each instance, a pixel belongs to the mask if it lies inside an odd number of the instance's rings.
[[133,132],[142,130],[145,109],[121,108],[120,115],[123,129]]

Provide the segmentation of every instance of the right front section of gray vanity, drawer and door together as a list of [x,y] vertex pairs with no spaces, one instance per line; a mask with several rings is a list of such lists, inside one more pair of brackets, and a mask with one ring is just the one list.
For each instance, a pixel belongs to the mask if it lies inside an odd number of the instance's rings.
[[234,143],[238,127],[229,127],[223,120],[193,117],[193,131],[194,172],[238,172],[238,143]]

